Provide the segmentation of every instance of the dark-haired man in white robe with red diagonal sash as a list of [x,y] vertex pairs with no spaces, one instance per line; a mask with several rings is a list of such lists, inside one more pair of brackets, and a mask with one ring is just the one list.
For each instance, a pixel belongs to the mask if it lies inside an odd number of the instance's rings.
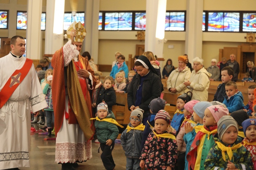
[[47,106],[32,60],[23,57],[22,36],[11,38],[11,52],[0,58],[0,169],[30,167],[31,114]]

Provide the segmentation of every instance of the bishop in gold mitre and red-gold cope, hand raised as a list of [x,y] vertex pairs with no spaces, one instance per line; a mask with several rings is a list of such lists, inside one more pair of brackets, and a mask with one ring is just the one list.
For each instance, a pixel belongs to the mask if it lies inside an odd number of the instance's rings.
[[96,79],[87,59],[79,52],[86,35],[82,23],[75,22],[67,30],[68,42],[53,55],[53,108],[55,115],[55,162],[62,170],[73,170],[77,162],[92,157],[94,135],[89,90]]

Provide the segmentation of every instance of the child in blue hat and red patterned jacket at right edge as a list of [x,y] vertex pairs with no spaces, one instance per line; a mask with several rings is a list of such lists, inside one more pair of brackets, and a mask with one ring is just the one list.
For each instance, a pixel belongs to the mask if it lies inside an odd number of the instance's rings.
[[242,144],[251,153],[253,168],[256,169],[256,119],[247,119],[242,126],[245,135]]

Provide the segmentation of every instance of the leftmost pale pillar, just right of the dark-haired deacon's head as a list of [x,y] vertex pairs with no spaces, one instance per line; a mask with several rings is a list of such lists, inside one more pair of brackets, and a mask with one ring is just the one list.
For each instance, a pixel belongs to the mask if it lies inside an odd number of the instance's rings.
[[42,0],[28,0],[26,56],[39,60],[41,57],[41,14]]

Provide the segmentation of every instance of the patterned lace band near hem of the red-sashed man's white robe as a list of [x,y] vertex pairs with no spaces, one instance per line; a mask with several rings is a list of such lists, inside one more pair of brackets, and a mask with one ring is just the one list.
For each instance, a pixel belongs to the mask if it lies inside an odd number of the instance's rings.
[[29,160],[29,153],[25,151],[0,153],[0,162],[10,160]]

